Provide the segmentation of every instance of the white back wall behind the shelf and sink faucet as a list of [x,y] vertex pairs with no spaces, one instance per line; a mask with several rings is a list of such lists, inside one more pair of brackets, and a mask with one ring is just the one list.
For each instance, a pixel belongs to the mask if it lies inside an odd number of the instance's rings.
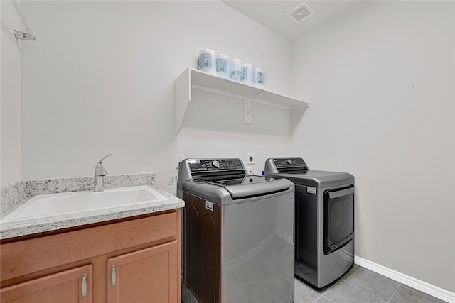
[[[197,68],[203,48],[263,67],[266,86],[289,93],[289,40],[225,4],[23,1],[23,8],[38,38],[22,53],[23,179],[92,175],[112,153],[109,174],[156,172],[156,184],[175,192],[167,182],[177,175],[176,153],[246,159],[289,145],[283,111],[258,105],[247,126],[242,101],[201,92],[174,132],[174,80]],[[277,125],[267,126],[274,113]]]

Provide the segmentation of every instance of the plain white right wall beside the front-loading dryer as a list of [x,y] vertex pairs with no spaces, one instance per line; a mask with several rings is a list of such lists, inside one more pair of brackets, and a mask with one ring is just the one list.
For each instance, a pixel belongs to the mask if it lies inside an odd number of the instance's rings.
[[455,291],[454,2],[365,1],[294,41],[292,141],[355,175],[355,255]]

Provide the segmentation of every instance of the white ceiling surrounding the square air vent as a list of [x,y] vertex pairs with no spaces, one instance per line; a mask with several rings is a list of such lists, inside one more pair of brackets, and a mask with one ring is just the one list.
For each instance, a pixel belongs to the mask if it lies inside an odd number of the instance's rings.
[[[312,28],[319,26],[333,16],[338,15],[342,11],[358,4],[359,0],[354,1],[291,1],[291,0],[220,0],[224,4],[232,7],[236,11],[252,18],[263,26],[279,33],[280,35],[294,40],[300,35],[303,35]],[[316,13],[309,18],[306,18],[300,23],[295,23],[287,15],[297,6],[306,2]]]

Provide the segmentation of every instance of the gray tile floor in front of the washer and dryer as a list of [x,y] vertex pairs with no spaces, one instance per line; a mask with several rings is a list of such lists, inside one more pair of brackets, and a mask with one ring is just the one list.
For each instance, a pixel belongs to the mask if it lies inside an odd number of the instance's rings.
[[[294,303],[444,303],[441,299],[358,265],[354,265],[348,275],[322,292],[299,280],[295,280],[294,287]],[[182,294],[182,302],[197,303],[197,300],[186,289]]]

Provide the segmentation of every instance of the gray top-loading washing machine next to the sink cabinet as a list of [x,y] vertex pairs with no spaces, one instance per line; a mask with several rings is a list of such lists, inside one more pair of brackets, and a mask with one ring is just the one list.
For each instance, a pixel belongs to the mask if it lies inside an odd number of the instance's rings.
[[[294,301],[294,184],[238,158],[186,159],[183,285],[198,302]],[[188,293],[188,292],[187,292]]]

